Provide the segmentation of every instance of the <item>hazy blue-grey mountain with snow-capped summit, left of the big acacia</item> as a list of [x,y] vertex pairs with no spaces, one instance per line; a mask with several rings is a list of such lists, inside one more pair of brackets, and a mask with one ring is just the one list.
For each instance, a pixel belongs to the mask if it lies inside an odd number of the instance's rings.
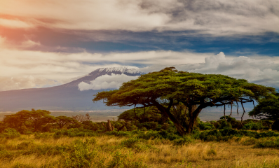
[[96,78],[125,74],[140,76],[142,72],[135,66],[118,66],[96,69],[77,80],[63,85],[0,92],[0,111],[20,111],[23,109],[93,111],[111,109],[102,102],[94,104],[93,95],[101,90],[79,90],[80,83],[94,83]]

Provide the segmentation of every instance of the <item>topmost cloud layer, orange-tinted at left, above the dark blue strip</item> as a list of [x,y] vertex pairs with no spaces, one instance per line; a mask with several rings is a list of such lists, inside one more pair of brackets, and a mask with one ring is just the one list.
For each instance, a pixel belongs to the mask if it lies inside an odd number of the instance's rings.
[[[217,36],[279,32],[277,0],[3,0],[4,25],[56,29],[197,31]],[[74,15],[73,15],[74,13]],[[1,17],[1,16],[0,16]],[[22,23],[23,22],[23,23]]]

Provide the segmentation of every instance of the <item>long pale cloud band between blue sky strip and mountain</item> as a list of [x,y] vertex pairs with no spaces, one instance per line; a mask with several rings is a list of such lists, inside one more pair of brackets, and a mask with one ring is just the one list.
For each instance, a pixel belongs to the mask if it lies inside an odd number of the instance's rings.
[[[41,52],[7,48],[5,41],[6,39],[0,36],[1,90],[63,84],[95,69],[120,65],[137,65],[142,67],[140,71],[143,72],[159,71],[166,66],[175,66],[182,71],[222,73],[235,78],[246,78],[250,82],[262,85],[279,87],[279,57],[258,55],[231,57],[225,56],[223,52],[214,55],[212,53],[174,52],[170,50],[111,52],[109,54]],[[37,45],[33,42],[31,44]],[[21,79],[22,76],[25,76],[24,79]],[[35,79],[41,78],[41,82],[26,76],[33,76]],[[11,80],[12,77],[20,79],[20,84],[15,84],[17,82]],[[118,84],[111,82],[106,85]]]

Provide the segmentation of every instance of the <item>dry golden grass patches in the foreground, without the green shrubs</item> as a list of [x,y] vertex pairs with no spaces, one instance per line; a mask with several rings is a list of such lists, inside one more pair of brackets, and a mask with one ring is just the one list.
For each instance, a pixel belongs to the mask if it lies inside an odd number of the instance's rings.
[[[26,154],[24,151],[32,150],[32,146],[25,149],[18,149],[22,142],[31,142],[36,146],[50,145],[69,145],[74,140],[85,137],[60,139],[35,139],[34,135],[21,135],[16,139],[0,139],[1,148],[5,148],[13,155],[10,158],[0,158],[0,167],[15,167],[18,163],[29,165],[30,167],[40,167],[47,163],[59,161],[61,155],[36,155],[36,153]],[[273,148],[253,148],[253,145],[243,145],[249,138],[231,139],[227,142],[202,142],[196,141],[189,146],[174,146],[169,140],[144,140],[139,143],[149,145],[141,150],[136,148],[126,148],[121,145],[121,141],[128,138],[101,136],[95,137],[97,143],[94,145],[98,150],[98,158],[104,158],[104,165],[113,159],[111,153],[132,153],[130,162],[142,160],[148,167],[279,167],[279,150]],[[4,146],[4,147],[3,147]],[[0,148],[0,156],[1,156]],[[3,152],[3,150],[2,150]],[[94,164],[92,167],[95,167]]]

